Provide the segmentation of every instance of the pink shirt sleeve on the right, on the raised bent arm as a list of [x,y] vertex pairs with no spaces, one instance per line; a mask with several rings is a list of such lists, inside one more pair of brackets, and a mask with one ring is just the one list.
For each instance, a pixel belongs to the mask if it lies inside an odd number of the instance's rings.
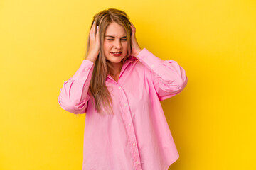
[[188,78],[185,70],[174,60],[161,60],[146,48],[137,56],[149,71],[159,100],[171,98],[186,86]]

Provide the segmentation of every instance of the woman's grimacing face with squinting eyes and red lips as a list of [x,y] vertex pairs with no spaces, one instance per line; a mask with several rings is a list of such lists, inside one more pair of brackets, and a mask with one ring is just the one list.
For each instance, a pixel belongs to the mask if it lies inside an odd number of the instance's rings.
[[[105,32],[103,43],[104,55],[112,64],[122,62],[122,59],[127,55],[127,33],[124,27],[118,23],[110,23]],[[117,54],[113,52],[119,52]]]

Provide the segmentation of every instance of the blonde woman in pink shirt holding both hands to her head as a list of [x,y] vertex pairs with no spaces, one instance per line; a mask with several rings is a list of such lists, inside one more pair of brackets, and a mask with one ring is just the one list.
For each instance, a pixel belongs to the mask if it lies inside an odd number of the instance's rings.
[[135,38],[124,11],[100,11],[85,60],[60,89],[60,106],[86,113],[83,170],[166,170],[178,159],[160,101],[180,93],[185,70]]

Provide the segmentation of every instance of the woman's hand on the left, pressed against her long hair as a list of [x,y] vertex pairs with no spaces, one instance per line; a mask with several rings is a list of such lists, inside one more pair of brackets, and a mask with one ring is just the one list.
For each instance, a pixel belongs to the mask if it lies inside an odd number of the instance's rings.
[[99,29],[96,28],[96,23],[94,22],[92,28],[90,29],[90,47],[88,50],[87,60],[95,62],[99,52],[100,52],[100,35]]

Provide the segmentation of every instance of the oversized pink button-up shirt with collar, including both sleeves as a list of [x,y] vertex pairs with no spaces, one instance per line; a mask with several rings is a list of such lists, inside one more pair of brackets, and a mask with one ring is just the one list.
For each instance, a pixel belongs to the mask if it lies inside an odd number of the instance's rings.
[[93,62],[83,60],[64,81],[58,103],[71,113],[86,112],[83,170],[167,170],[179,155],[160,101],[180,93],[185,70],[144,48],[124,62],[119,80],[107,76],[114,115],[101,116],[89,89]]

